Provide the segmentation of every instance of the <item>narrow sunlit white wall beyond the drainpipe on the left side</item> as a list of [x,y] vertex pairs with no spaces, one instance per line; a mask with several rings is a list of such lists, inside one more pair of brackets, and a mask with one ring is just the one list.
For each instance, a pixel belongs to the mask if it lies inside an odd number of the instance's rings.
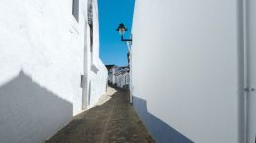
[[[87,101],[88,101],[88,108],[94,106],[96,101],[100,98],[102,94],[106,91],[106,84],[107,84],[107,76],[108,71],[105,65],[102,63],[101,59],[99,58],[99,18],[98,18],[98,6],[97,0],[93,0],[93,52],[90,52],[90,38],[87,36],[87,49],[88,49],[88,60],[87,60]],[[87,14],[87,12],[86,12]],[[87,23],[87,22],[86,22]],[[89,26],[88,28],[88,35],[89,33]],[[91,55],[93,55],[93,59],[91,59]],[[97,69],[97,71],[95,71]],[[89,84],[90,87],[89,87]]]

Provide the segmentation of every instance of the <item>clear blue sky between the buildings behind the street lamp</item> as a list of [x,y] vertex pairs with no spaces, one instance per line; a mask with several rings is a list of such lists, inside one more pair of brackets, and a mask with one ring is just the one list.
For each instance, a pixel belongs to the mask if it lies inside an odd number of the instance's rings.
[[100,58],[104,64],[127,65],[127,45],[116,31],[123,22],[128,28],[124,37],[130,37],[135,0],[98,0]]

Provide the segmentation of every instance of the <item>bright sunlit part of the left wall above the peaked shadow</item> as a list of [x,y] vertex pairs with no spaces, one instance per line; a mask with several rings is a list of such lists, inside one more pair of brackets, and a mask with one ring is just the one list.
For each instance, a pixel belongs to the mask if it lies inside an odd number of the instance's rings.
[[[81,96],[83,49],[75,31],[79,26],[71,14],[71,1],[58,2],[1,1],[0,83],[5,84],[23,70],[73,103]],[[79,108],[76,103],[74,112]]]

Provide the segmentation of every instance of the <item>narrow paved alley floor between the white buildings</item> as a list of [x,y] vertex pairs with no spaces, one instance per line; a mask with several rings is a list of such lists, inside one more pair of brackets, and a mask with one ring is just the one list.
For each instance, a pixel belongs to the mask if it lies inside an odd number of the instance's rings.
[[129,104],[127,92],[108,87],[91,109],[79,114],[46,143],[154,143]]

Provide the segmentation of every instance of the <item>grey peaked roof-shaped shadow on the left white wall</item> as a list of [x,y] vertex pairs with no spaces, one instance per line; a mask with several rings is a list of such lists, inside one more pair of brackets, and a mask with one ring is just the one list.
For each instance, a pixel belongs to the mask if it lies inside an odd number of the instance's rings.
[[72,108],[20,71],[0,87],[0,142],[42,142],[72,118]]

